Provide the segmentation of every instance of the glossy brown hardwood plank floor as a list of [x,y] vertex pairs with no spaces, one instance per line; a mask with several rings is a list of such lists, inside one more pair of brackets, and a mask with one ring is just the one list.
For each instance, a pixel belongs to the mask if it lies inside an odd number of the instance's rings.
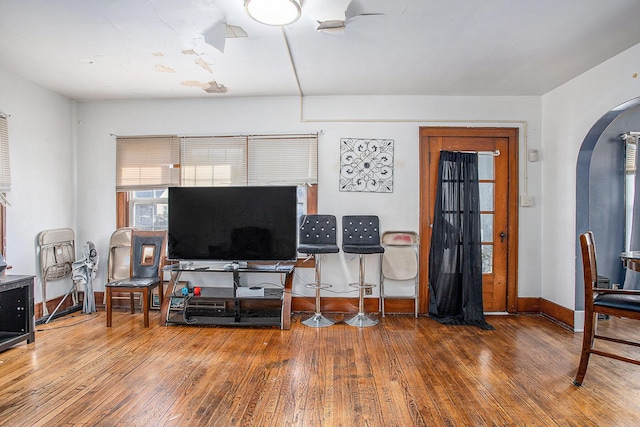
[[640,425],[640,368],[594,356],[573,386],[582,334],[540,316],[490,316],[495,331],[408,316],[313,329],[305,317],[288,331],[163,327],[157,312],[149,329],[119,311],[112,328],[104,312],[55,320],[0,353],[0,424]]

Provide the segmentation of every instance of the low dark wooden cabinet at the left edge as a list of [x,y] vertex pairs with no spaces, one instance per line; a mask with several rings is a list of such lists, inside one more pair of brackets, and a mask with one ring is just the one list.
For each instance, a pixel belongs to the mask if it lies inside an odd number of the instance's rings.
[[36,340],[33,314],[33,276],[0,279],[0,351]]

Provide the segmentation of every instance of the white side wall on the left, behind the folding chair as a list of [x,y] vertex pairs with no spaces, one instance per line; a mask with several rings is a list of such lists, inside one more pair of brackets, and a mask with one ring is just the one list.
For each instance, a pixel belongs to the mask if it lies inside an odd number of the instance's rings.
[[[8,114],[12,189],[7,208],[9,274],[37,275],[37,235],[75,228],[74,103],[0,70],[0,111]],[[47,297],[63,295],[71,280],[50,282]]]

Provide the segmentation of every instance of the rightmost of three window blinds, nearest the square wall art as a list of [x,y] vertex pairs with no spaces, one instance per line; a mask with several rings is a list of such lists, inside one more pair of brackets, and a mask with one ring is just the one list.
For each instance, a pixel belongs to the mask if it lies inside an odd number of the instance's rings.
[[318,135],[248,137],[249,185],[318,183]]

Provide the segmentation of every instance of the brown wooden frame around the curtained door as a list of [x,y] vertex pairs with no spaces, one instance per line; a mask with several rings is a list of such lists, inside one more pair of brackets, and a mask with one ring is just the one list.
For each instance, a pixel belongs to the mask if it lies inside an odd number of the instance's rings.
[[[421,126],[420,138],[420,298],[421,314],[429,311],[429,250],[434,207],[431,206],[431,189],[434,179],[429,174],[430,137],[494,137],[507,138],[509,145],[509,171],[507,194],[507,312],[516,313],[518,303],[518,128],[513,127],[431,127]],[[437,178],[436,178],[437,179]]]

